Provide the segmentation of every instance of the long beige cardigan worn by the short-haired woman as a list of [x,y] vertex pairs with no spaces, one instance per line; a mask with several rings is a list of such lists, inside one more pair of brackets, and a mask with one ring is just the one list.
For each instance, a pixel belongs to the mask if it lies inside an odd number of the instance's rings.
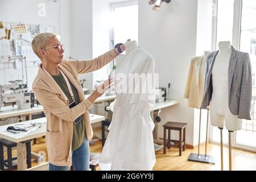
[[56,166],[71,166],[71,145],[73,138],[73,121],[79,115],[84,115],[85,131],[88,140],[92,139],[93,131],[90,125],[88,110],[92,103],[86,99],[79,81],[79,75],[104,67],[117,54],[114,49],[92,60],[64,60],[58,67],[76,87],[80,104],[69,108],[65,95],[59,85],[42,69],[40,64],[38,75],[32,84],[32,90],[40,104],[44,107],[47,118],[46,147],[49,163]]

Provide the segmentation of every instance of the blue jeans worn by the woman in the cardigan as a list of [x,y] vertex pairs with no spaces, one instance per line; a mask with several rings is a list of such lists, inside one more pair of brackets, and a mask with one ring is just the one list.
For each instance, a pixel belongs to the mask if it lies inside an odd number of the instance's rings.
[[[84,143],[72,151],[72,167],[74,171],[89,171],[90,150],[89,141],[85,138]],[[49,171],[68,171],[68,166],[55,166],[49,163]]]

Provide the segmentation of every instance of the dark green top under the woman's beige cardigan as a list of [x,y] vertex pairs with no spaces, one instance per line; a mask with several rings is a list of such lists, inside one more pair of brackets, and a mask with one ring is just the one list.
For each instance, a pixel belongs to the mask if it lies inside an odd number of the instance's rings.
[[[60,86],[61,90],[63,90],[63,92],[65,93],[65,95],[68,97],[69,103],[72,103],[72,97],[71,94],[68,90],[68,85],[65,82],[64,77],[61,75],[61,73],[59,75],[52,75],[53,79],[57,82],[57,84]],[[68,80],[69,81],[69,80]],[[80,103],[80,99],[79,99],[79,94],[77,92],[77,89],[75,88],[75,86],[71,83],[71,81],[69,81],[74,97],[75,97],[75,101],[76,104]],[[82,116],[82,120],[77,123],[75,125],[74,123],[74,129],[73,129],[73,139],[72,139],[72,151],[76,150],[77,148],[79,148],[82,143],[84,142],[85,139],[85,127],[84,127],[84,117]]]

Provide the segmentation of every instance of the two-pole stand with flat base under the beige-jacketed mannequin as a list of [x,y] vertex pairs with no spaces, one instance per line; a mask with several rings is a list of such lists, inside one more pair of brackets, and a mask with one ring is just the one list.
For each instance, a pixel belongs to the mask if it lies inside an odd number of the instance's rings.
[[210,156],[210,155],[207,155],[208,117],[209,117],[209,109],[207,109],[207,133],[206,133],[206,140],[205,140],[205,154],[203,155],[203,154],[200,154],[200,133],[201,133],[200,132],[200,130],[201,130],[201,108],[200,108],[198,152],[197,152],[197,154],[191,153],[189,155],[189,158],[188,158],[189,161],[215,164],[214,157]]

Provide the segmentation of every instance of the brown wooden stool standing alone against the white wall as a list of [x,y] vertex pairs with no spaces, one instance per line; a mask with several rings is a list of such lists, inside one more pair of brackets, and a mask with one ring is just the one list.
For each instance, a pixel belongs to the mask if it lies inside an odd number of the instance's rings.
[[[171,147],[171,146],[179,147],[179,156],[181,156],[181,147],[183,147],[183,151],[185,151],[186,125],[187,123],[177,123],[177,122],[167,122],[163,125],[164,127],[163,153],[164,154],[166,154],[166,147]],[[166,138],[166,130],[168,130],[168,139]],[[179,140],[171,140],[171,130],[179,131],[179,134],[180,134]],[[182,140],[182,132],[183,132],[183,140]],[[174,144],[171,144],[171,142],[174,142]]]

